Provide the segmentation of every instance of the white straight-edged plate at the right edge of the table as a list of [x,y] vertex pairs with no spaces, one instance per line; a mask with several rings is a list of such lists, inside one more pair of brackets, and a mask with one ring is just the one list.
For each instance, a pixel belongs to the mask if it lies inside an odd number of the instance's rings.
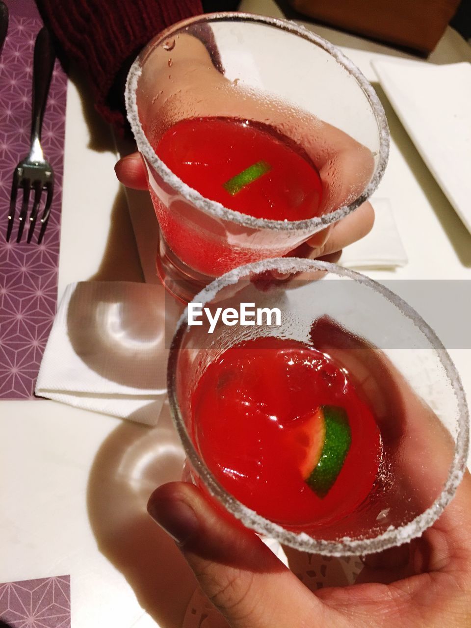
[[471,63],[376,60],[387,99],[471,233]]

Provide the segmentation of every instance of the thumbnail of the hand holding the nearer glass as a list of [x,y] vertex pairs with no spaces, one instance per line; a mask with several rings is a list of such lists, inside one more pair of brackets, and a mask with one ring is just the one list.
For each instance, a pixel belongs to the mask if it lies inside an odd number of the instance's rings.
[[153,494],[149,499],[147,511],[179,545],[188,541],[197,532],[198,519],[195,511],[183,499],[168,499]]

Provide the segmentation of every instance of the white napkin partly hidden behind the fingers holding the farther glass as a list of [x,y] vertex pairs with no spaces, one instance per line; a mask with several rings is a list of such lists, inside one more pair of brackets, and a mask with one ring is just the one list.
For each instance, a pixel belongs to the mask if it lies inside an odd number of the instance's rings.
[[399,236],[393,208],[386,198],[372,198],[374,225],[367,236],[342,251],[339,264],[345,268],[394,268],[408,263]]

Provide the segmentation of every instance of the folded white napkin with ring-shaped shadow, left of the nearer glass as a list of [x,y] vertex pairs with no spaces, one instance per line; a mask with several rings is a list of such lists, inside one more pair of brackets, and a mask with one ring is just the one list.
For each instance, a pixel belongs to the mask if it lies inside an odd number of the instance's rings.
[[67,286],[35,393],[155,425],[179,306],[161,285],[125,281]]

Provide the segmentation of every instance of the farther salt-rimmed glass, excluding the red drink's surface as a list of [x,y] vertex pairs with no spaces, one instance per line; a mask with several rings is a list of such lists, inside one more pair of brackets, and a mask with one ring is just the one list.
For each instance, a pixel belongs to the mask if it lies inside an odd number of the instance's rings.
[[[322,239],[386,167],[387,122],[371,85],[337,48],[289,21],[215,13],[171,26],[133,63],[126,107],[160,224],[158,274],[183,301],[236,266]],[[263,123],[301,146],[322,180],[320,215],[257,219],[188,187],[155,147],[177,122],[204,117]]]

